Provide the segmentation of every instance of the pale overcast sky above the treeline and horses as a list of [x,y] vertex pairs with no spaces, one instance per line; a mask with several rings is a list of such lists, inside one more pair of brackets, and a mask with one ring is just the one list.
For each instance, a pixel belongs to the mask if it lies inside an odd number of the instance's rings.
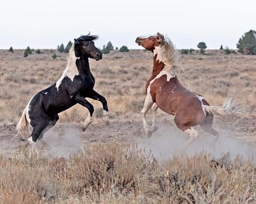
[[256,0],[3,0],[0,17],[0,49],[57,48],[89,31],[100,48],[139,49],[138,36],[161,32],[179,49],[235,49],[256,30]]

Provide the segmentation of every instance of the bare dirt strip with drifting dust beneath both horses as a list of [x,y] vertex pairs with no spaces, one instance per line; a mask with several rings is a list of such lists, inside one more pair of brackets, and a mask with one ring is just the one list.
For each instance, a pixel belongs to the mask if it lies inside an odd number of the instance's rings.
[[[152,151],[159,159],[171,158],[173,154],[179,154],[179,147],[188,139],[188,135],[180,131],[175,126],[173,116],[157,111],[158,130],[151,138],[146,138],[142,128],[142,122],[139,114],[135,114],[134,118],[128,116],[117,116],[110,120],[110,125],[103,123],[91,124],[86,131],[82,131],[79,125],[55,125],[50,131],[45,133],[44,138],[50,143],[53,150],[53,157],[66,157],[75,154],[90,143],[130,143],[137,145],[139,148]],[[151,114],[147,116],[150,124]],[[200,133],[200,137],[187,149],[187,154],[195,152],[207,151],[213,157],[218,157],[223,152],[229,152],[231,157],[242,155],[244,159],[256,156],[255,143],[245,140],[246,137],[253,137],[256,131],[256,118],[247,116],[239,121],[236,126],[220,126],[218,120],[214,121],[214,128],[220,132],[220,138],[217,145],[213,146],[214,136],[205,133],[201,128],[196,127]],[[13,157],[22,154],[23,149],[31,148],[26,142],[19,140],[15,124],[3,126],[0,130],[1,154],[6,157]],[[14,138],[12,140],[12,138]],[[11,142],[12,140],[12,142]],[[11,143],[10,143],[11,142]],[[40,142],[37,146],[42,152],[48,152],[43,148]]]

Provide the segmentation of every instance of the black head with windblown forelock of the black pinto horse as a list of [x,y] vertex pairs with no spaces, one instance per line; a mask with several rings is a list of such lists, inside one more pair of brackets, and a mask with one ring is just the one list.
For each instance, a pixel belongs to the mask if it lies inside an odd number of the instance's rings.
[[93,40],[98,39],[98,36],[90,36],[90,33],[86,36],[81,36],[75,40],[74,49],[76,57],[86,55],[93,58],[96,61],[102,59],[102,53],[95,47]]

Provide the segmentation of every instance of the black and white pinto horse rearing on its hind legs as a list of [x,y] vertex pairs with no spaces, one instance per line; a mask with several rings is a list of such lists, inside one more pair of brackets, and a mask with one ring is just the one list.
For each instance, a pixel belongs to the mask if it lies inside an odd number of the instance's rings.
[[[49,88],[38,92],[33,96],[24,109],[19,123],[18,133],[28,137],[28,125],[33,127],[33,131],[28,140],[33,144],[37,139],[47,143],[43,134],[51,129],[59,120],[58,113],[80,104],[89,110],[84,124],[83,131],[92,122],[94,112],[93,105],[85,98],[99,100],[103,105],[103,123],[109,124],[108,106],[105,97],[93,90],[95,79],[90,71],[89,58],[96,61],[102,59],[102,53],[94,46],[93,40],[98,36],[81,36],[75,40],[74,46],[70,48],[66,69],[61,78]],[[48,143],[47,143],[48,144]],[[49,144],[48,144],[49,145]]]

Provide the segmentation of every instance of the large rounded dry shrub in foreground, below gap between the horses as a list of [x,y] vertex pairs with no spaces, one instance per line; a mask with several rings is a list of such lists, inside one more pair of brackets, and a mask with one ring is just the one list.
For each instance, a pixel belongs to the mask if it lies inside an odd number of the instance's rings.
[[115,189],[116,193],[129,193],[138,190],[138,180],[146,174],[151,154],[127,145],[94,145],[81,154],[71,157],[73,163],[69,177],[78,180],[76,191],[94,189],[98,193]]

